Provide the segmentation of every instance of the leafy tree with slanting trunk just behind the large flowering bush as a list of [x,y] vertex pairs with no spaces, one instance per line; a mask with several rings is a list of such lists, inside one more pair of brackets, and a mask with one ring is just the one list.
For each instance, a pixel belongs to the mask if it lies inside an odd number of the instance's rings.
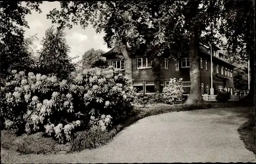
[[[109,48],[116,48],[125,59],[125,75],[132,79],[132,53],[128,48],[144,42],[138,32],[138,24],[144,24],[147,12],[146,2],[61,2],[61,10],[53,9],[48,18],[60,27],[72,28],[72,21],[86,28],[92,24],[97,33],[104,32],[104,41]],[[84,10],[86,9],[86,10]],[[143,20],[138,21],[139,18]],[[149,20],[149,19],[148,19]],[[147,26],[150,26],[149,24]]]

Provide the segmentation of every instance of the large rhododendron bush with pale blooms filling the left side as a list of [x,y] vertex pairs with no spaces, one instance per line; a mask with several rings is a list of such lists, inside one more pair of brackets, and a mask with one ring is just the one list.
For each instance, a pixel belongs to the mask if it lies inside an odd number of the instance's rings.
[[77,130],[99,126],[102,131],[132,109],[132,81],[112,66],[72,73],[71,82],[55,76],[12,71],[1,88],[5,128],[44,131],[63,143]]

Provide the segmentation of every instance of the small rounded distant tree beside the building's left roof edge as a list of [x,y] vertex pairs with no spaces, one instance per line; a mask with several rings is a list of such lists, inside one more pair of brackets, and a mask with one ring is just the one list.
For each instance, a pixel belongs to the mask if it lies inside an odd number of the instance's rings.
[[104,51],[102,50],[90,49],[86,51],[81,60],[82,68],[91,68],[96,67],[97,65],[103,66],[104,64],[108,65],[107,63],[103,62],[103,57],[101,56],[102,54],[104,54]]

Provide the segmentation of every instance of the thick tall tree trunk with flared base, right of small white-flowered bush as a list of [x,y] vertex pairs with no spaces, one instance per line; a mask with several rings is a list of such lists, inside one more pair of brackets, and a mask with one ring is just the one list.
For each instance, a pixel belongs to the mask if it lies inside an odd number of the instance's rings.
[[194,26],[191,29],[189,41],[189,57],[190,57],[190,81],[191,89],[186,104],[202,103],[201,94],[201,78],[199,68],[199,29]]

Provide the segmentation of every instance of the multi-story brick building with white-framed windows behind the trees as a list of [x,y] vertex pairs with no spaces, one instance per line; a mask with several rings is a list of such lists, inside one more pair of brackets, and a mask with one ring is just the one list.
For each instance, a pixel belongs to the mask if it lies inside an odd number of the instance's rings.
[[[113,50],[113,49],[112,49]],[[116,54],[113,51],[103,54],[109,65],[114,68],[120,68],[125,71],[124,60],[120,58],[121,54]],[[214,95],[219,90],[230,91],[233,95],[233,68],[234,65],[228,63],[223,54],[219,52],[217,46],[212,46],[212,68],[210,66],[210,48],[206,45],[200,45],[200,75],[201,75],[201,92],[202,95],[210,95],[211,87],[211,71],[212,71],[212,87]],[[119,56],[119,58],[117,57]],[[142,90],[145,94],[155,91],[155,78],[152,73],[152,62],[143,55],[135,55],[133,61],[133,85],[138,91]],[[190,92],[190,74],[189,74],[189,56],[184,56],[181,61],[170,60],[162,57],[161,60],[161,87],[169,84],[170,78],[182,78],[184,94]]]

